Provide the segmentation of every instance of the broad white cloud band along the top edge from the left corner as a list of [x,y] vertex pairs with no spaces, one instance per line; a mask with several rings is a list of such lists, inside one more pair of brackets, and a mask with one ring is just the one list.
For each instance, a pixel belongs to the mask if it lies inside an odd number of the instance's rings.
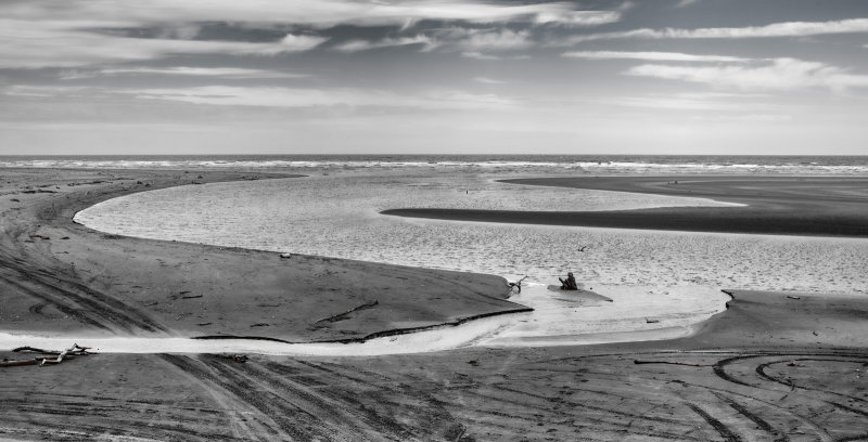
[[65,0],[63,8],[58,8],[53,1],[30,0],[0,6],[0,16],[33,21],[88,17],[151,25],[206,22],[296,24],[318,28],[339,24],[406,27],[426,20],[596,26],[621,20],[618,11],[580,11],[562,1],[498,4],[456,0]]

